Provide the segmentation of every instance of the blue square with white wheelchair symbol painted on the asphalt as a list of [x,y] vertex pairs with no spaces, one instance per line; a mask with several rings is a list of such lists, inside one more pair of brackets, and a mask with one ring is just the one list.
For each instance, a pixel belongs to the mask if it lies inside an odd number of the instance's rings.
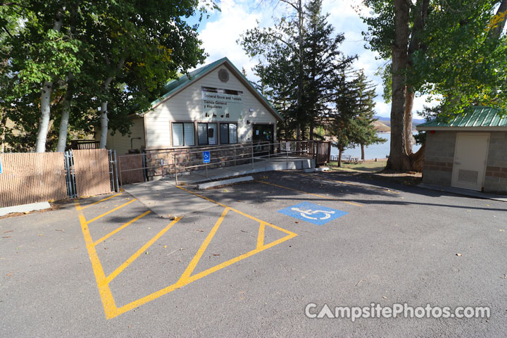
[[346,211],[327,208],[327,206],[319,206],[310,202],[303,202],[296,204],[295,206],[289,206],[279,210],[278,212],[299,220],[306,220],[306,222],[316,225],[325,225],[325,223],[347,214]]

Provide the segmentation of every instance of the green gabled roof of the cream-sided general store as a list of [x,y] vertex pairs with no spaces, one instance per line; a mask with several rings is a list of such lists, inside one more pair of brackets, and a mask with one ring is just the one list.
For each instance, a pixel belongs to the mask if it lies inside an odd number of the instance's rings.
[[169,96],[171,96],[175,92],[179,91],[180,89],[182,89],[184,87],[187,87],[192,82],[194,82],[197,79],[199,79],[200,77],[203,77],[204,75],[208,74],[215,67],[217,67],[218,65],[225,63],[225,62],[227,62],[236,71],[237,75],[242,77],[243,80],[247,84],[249,84],[249,87],[253,90],[253,92],[256,92],[258,94],[258,96],[264,101],[264,103],[267,104],[273,110],[273,113],[275,113],[275,116],[277,118],[279,118],[280,120],[283,120],[282,115],[280,115],[280,113],[278,113],[278,111],[276,110],[275,107],[273,107],[273,105],[270,103],[270,101],[268,101],[268,99],[266,99],[263,94],[259,93],[258,90],[256,89],[256,87],[253,87],[253,84],[251,84],[251,82],[246,77],[244,77],[242,72],[240,72],[236,68],[236,66],[233,65],[232,62],[230,62],[230,60],[228,58],[220,58],[219,60],[217,60],[215,62],[209,63],[208,65],[204,65],[201,68],[197,68],[196,70],[190,72],[189,75],[182,75],[177,80],[171,80],[168,84],[165,85],[165,89],[168,92],[163,94],[163,96],[160,99],[156,99],[155,101],[151,102],[151,106],[159,104],[161,101],[164,101],[165,99],[167,99]]

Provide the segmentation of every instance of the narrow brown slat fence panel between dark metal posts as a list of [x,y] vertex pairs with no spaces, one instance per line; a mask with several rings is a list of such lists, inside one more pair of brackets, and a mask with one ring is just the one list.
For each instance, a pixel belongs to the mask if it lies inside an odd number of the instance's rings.
[[111,192],[109,159],[106,149],[74,150],[73,158],[78,197]]

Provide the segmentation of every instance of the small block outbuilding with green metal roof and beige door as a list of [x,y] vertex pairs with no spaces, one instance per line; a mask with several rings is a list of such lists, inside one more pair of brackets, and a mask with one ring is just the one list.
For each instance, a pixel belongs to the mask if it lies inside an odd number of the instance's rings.
[[425,131],[423,183],[507,194],[507,118],[473,106],[452,120],[430,120]]

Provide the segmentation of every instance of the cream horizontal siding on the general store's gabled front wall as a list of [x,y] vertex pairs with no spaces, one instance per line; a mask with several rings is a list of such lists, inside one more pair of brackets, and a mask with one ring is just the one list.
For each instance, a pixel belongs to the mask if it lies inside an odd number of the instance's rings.
[[[227,69],[230,74],[227,82],[218,80],[218,71]],[[203,121],[201,87],[215,87],[222,89],[240,90],[243,92],[243,118],[239,121],[220,121],[220,118],[211,122],[237,122],[238,142],[250,142],[252,137],[253,123],[276,124],[275,116],[268,111],[256,96],[253,96],[250,89],[240,82],[232,70],[221,65],[208,75],[196,80],[189,87],[170,97],[170,99],[158,104],[153,111],[144,115],[146,124],[146,148],[156,149],[172,146],[171,144],[171,122],[199,122]],[[252,109],[252,111],[250,111]],[[251,124],[246,121],[250,120]],[[207,122],[207,121],[203,121]],[[218,138],[220,142],[220,138]]]

